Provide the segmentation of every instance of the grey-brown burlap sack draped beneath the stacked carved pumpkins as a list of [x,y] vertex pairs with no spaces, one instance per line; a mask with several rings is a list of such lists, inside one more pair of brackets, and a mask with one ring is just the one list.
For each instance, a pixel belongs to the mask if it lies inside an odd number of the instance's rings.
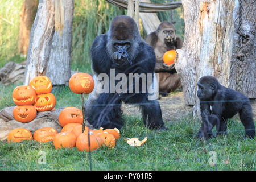
[[59,114],[64,109],[60,107],[55,111],[38,112],[36,118],[28,123],[22,123],[16,121],[13,117],[14,107],[6,107],[0,111],[0,140],[6,140],[9,132],[17,127],[23,127],[30,130],[34,134],[35,130],[42,127],[53,127],[58,131],[61,131],[62,127],[59,124]]

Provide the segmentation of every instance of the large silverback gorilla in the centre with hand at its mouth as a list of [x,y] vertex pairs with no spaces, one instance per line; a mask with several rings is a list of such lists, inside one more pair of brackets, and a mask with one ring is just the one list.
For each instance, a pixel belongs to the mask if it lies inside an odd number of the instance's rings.
[[[110,76],[110,69],[114,69],[115,75],[122,73],[128,77],[130,73],[138,73],[138,75],[150,73],[154,77],[154,50],[141,38],[136,23],[129,16],[121,15],[113,18],[109,31],[97,36],[90,51],[92,69],[96,74],[94,81],[101,73]],[[128,79],[122,81],[126,84]],[[113,81],[109,80],[109,85],[111,84]],[[117,81],[114,81],[114,85],[117,86]],[[132,86],[136,89],[134,82]],[[93,127],[119,129],[123,126],[122,102],[139,105],[146,126],[151,129],[166,130],[158,101],[148,99],[148,92],[143,93],[141,88],[139,93],[99,93],[97,86],[94,86],[85,104],[86,119]]]

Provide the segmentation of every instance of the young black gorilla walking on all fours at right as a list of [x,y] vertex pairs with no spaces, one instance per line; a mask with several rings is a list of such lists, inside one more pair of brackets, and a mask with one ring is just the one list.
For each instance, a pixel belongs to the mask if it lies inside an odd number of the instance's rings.
[[255,137],[255,126],[250,100],[242,93],[222,86],[212,76],[203,76],[197,82],[202,125],[198,136],[209,139],[216,125],[217,134],[226,134],[226,119],[240,114],[245,137]]

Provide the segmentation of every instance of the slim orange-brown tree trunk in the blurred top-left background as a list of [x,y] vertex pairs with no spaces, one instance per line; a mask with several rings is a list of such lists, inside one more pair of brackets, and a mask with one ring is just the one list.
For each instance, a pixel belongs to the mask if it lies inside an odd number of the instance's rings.
[[20,12],[18,53],[27,55],[30,30],[38,9],[38,0],[24,0]]

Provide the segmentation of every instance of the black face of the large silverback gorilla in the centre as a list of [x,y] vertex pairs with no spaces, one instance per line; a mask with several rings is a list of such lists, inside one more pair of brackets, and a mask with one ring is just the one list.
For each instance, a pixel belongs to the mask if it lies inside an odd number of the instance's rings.
[[131,63],[131,57],[129,55],[131,42],[129,40],[115,40],[113,42],[113,58],[117,63]]

